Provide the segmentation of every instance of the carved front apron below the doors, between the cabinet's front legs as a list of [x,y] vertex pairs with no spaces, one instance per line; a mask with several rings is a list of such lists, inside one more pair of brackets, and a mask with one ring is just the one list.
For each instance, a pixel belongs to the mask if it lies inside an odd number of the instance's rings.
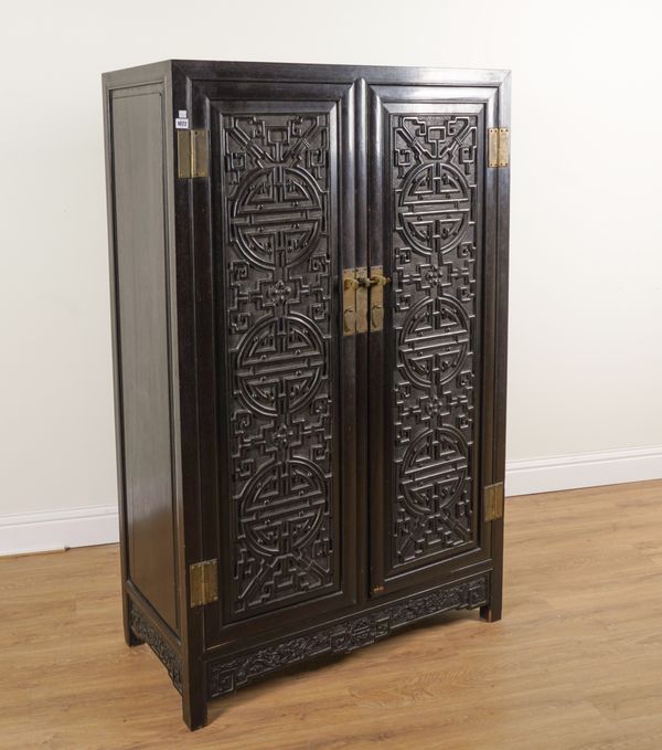
[[404,602],[348,617],[331,626],[284,638],[248,654],[212,662],[209,667],[209,695],[215,698],[232,693],[270,672],[316,656],[346,654],[385,638],[398,627],[439,612],[480,606],[488,600],[488,585],[489,575],[482,573],[410,596]]

